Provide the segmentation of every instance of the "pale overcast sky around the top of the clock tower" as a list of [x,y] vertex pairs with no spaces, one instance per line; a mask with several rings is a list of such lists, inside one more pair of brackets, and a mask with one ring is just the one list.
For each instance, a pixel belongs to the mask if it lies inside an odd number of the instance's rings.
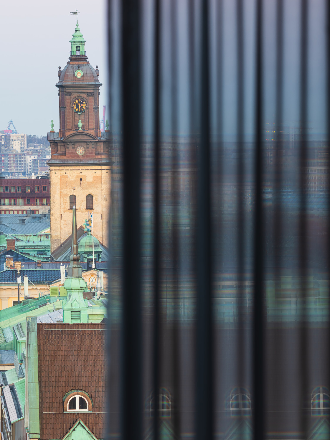
[[106,104],[106,1],[0,1],[0,130],[12,119],[19,133],[46,135],[51,119],[59,130],[58,68],[68,61],[78,23],[88,61],[99,66],[100,115]]

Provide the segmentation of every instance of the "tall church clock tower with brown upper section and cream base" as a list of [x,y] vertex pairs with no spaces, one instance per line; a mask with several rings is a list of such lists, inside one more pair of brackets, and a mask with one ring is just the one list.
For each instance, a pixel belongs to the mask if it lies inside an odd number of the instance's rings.
[[[98,66],[88,61],[78,26],[69,61],[59,67],[59,132],[48,133],[51,145],[51,252],[71,235],[72,209],[77,226],[93,213],[94,235],[108,246],[110,212],[110,132],[99,129]],[[75,188],[73,190],[73,187]],[[74,194],[74,195],[73,195]]]

